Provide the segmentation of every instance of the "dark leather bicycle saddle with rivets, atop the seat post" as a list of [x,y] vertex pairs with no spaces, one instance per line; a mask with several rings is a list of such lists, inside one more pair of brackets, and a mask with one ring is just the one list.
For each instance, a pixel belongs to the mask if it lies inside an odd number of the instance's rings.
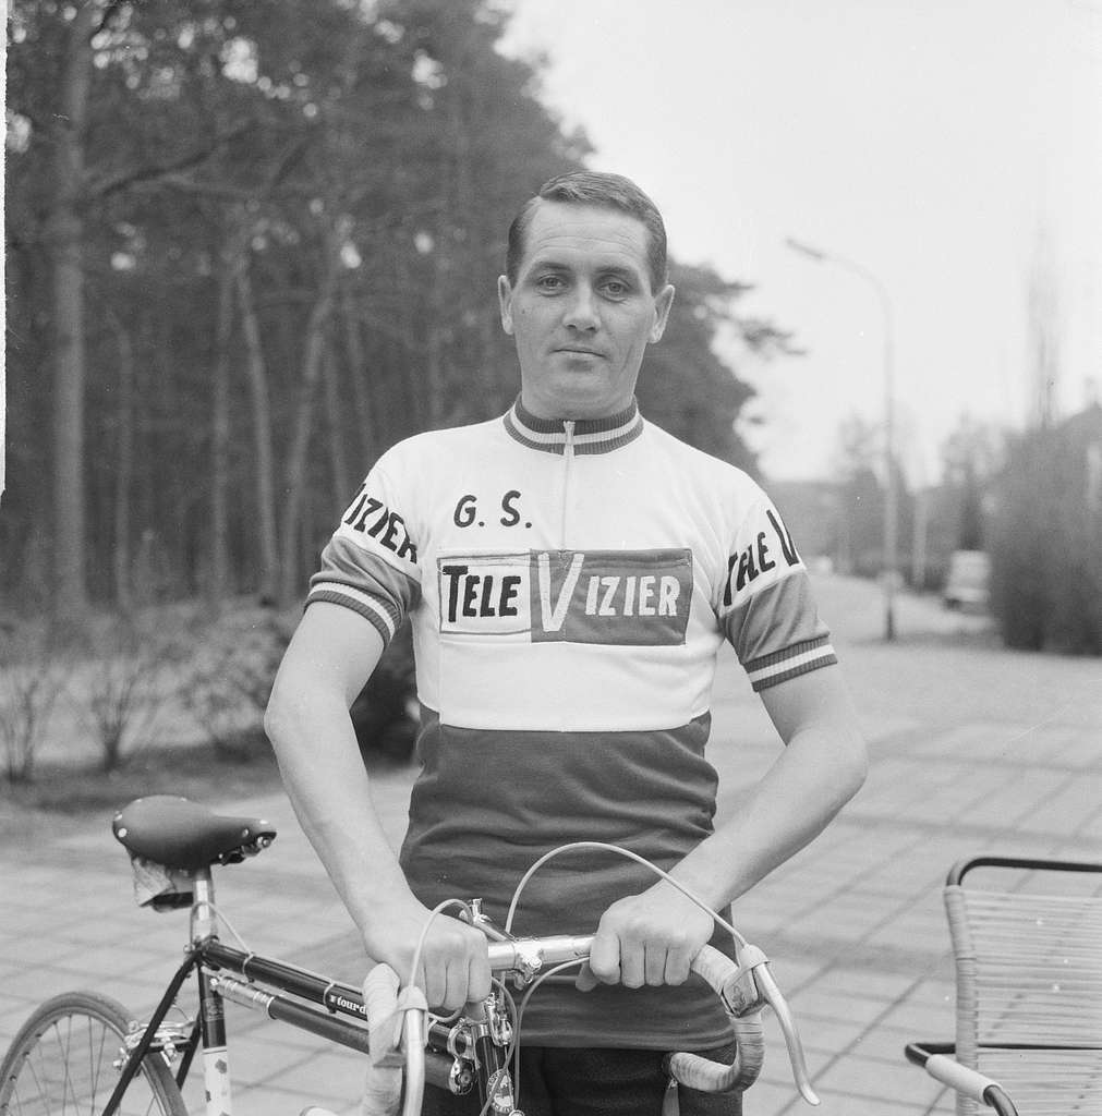
[[186,870],[240,864],[276,839],[276,827],[262,818],[215,814],[174,795],[135,798],[111,827],[134,856]]

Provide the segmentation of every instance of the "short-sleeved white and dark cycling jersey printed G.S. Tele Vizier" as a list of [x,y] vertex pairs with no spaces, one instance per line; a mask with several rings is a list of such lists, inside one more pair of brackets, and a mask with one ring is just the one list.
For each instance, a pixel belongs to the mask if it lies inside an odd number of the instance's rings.
[[[498,922],[565,841],[669,868],[711,833],[705,743],[725,638],[755,690],[836,661],[761,489],[634,404],[552,422],[518,401],[395,445],[325,548],[319,600],[384,641],[412,618],[423,768],[402,866],[427,905],[478,896]],[[564,854],[526,887],[514,930],[592,931],[652,882],[611,853]],[[547,987],[525,1017],[526,1041],[549,1046],[700,1049],[726,1035],[702,985]]]

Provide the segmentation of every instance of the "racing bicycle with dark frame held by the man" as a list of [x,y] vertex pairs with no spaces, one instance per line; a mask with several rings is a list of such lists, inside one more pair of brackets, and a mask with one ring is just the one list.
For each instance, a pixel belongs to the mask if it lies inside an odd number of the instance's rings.
[[[231,1116],[226,1001],[366,1055],[372,1067],[399,1069],[404,1116],[420,1112],[427,1081],[453,1093],[477,1089],[482,1112],[523,1116],[509,1068],[519,1017],[544,980],[587,959],[592,935],[517,939],[509,933],[511,911],[505,927],[498,929],[477,899],[441,904],[434,915],[457,905],[482,929],[495,974],[495,991],[486,1001],[468,1004],[458,1018],[442,1019],[429,1012],[415,985],[401,989],[385,965],[372,970],[361,991],[219,939],[221,923],[232,927],[214,902],[212,868],[239,864],[268,848],[276,829],[263,819],[220,815],[184,798],[157,795],[123,808],[113,830],[131,855],[140,894],[146,896],[143,905],[190,912],[184,960],[142,1022],[93,992],[65,992],[36,1009],[0,1062],[0,1116],[188,1116],[181,1090],[197,1055],[207,1116]],[[558,852],[533,865],[517,888],[514,908],[524,883]],[[783,1031],[796,1088],[817,1105],[795,1021],[768,959],[757,946],[738,936],[736,941],[737,961],[706,945],[692,963],[731,1021],[734,1064],[675,1052],[667,1056],[664,1067],[673,1079],[697,1089],[749,1088],[761,1069],[761,1013],[768,1006]],[[194,1018],[173,1020],[170,1013],[192,977],[198,984]],[[519,1007],[507,980],[524,993]]]

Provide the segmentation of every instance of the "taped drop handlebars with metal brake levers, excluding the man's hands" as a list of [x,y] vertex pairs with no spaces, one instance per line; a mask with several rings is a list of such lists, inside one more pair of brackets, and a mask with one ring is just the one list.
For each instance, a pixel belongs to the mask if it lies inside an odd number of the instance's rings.
[[[492,941],[488,944],[490,968],[498,973],[515,973],[523,983],[528,983],[547,965],[585,960],[590,955],[592,942],[592,936],[568,935]],[[765,1054],[761,1011],[768,1004],[784,1033],[796,1087],[808,1104],[817,1105],[818,1097],[811,1085],[795,1020],[773,979],[765,953],[757,946],[747,944],[739,950],[736,962],[719,950],[705,945],[693,959],[691,969],[715,990],[731,1021],[736,1041],[735,1062],[726,1066],[694,1054],[672,1054],[665,1059],[665,1068],[670,1075],[682,1085],[707,1093],[748,1088],[757,1080],[761,1070]],[[390,977],[376,975],[380,970]],[[385,985],[387,990],[374,1000],[370,994],[373,980],[376,987]],[[372,1022],[372,1061],[376,1066],[393,1065],[393,1061],[386,1062],[387,1055],[396,1051],[401,1045],[400,1057],[404,1058],[406,1072],[402,1112],[403,1116],[416,1116],[421,1110],[425,1081],[427,1012],[423,997],[408,998],[408,992],[409,990],[401,995],[396,994],[393,973],[385,965],[376,966],[365,984],[368,1018],[390,1020],[389,1029]],[[396,1027],[399,1016],[402,1022]],[[377,1052],[376,1033],[382,1046]],[[390,1054],[390,1057],[393,1058],[394,1054]]]

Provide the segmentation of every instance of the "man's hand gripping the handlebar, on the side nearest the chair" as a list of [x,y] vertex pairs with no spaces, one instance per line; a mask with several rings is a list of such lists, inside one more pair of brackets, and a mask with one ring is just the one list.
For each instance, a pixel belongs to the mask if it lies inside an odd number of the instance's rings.
[[683,984],[712,930],[709,914],[661,881],[605,911],[576,987],[587,992],[598,983]]

